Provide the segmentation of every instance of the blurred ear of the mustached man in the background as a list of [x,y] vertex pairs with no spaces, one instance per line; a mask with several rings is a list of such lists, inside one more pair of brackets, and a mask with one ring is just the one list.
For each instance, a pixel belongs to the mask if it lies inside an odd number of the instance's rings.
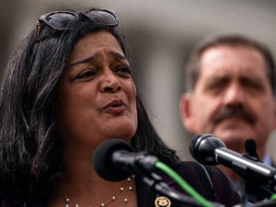
[[192,111],[192,95],[188,92],[184,93],[180,99],[179,111],[181,115],[181,120],[184,128],[186,130],[193,132],[194,119]]

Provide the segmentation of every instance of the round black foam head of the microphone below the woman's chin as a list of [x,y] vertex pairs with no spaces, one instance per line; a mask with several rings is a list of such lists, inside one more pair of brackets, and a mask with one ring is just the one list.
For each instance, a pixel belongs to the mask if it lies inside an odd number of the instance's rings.
[[134,151],[130,144],[121,139],[108,139],[96,148],[92,155],[92,166],[99,177],[108,181],[121,181],[131,175],[131,172],[117,168],[112,164],[112,153],[117,150]]

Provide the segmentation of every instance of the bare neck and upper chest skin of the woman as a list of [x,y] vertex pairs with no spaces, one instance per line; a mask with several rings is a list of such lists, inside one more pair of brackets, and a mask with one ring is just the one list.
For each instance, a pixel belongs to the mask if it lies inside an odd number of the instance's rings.
[[[91,154],[85,151],[77,155],[72,151],[64,153],[65,172],[52,188],[48,206],[65,206],[66,198],[70,199],[70,206],[99,206],[112,197],[116,198],[110,206],[122,206],[124,199],[128,199],[127,206],[137,206],[135,181],[110,182],[102,179],[92,168]],[[130,186],[132,190],[129,192]],[[123,192],[120,190],[122,187]]]

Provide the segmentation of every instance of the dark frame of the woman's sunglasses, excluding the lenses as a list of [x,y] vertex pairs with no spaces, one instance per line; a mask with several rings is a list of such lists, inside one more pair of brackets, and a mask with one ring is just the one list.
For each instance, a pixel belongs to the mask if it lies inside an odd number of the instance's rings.
[[79,14],[82,14],[83,16],[87,17],[88,19],[92,20],[92,21],[95,21],[95,19],[92,19],[91,17],[89,17],[89,12],[106,12],[108,14],[111,14],[112,17],[114,17],[114,20],[115,22],[114,23],[105,23],[104,26],[108,26],[108,27],[115,27],[115,26],[118,26],[119,24],[119,19],[117,17],[117,14],[115,11],[113,10],[108,10],[108,9],[90,9],[90,10],[84,10],[84,11],[80,11],[80,12],[72,12],[72,11],[55,11],[55,12],[50,12],[50,13],[47,13],[47,14],[43,14],[41,16],[39,16],[37,18],[37,31],[35,33],[35,40],[34,42],[37,41],[38,37],[39,37],[39,32],[41,30],[41,23],[46,23],[47,26],[49,26],[50,28],[52,29],[55,29],[55,30],[59,30],[59,31],[62,31],[62,30],[68,30],[70,27],[63,27],[63,28],[58,28],[58,27],[55,27],[53,26],[51,23],[48,22],[48,17],[54,15],[54,14],[71,14],[72,17],[75,17],[75,19],[79,19]]

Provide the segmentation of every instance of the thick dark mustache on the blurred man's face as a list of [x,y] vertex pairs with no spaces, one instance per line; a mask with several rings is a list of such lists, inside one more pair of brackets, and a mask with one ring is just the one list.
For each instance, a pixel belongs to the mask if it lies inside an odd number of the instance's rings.
[[243,106],[228,106],[223,108],[214,115],[213,121],[215,124],[217,124],[219,121],[229,117],[240,117],[250,124],[254,124],[256,121],[255,116],[248,112],[248,110],[245,110]]

